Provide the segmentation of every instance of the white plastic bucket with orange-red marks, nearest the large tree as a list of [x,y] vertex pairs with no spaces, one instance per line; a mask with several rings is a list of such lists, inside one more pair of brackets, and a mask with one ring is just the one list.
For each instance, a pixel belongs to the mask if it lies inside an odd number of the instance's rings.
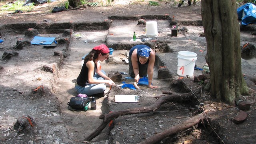
[[192,77],[196,64],[197,54],[194,52],[180,51],[178,52],[178,68],[177,74],[179,76]]

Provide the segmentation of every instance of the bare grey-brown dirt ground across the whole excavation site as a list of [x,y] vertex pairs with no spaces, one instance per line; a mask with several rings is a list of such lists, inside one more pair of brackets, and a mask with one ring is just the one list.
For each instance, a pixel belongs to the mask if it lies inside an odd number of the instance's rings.
[[[190,51],[197,54],[196,66],[205,65],[206,40],[201,20],[200,2],[188,6],[184,2],[178,8],[177,1],[161,1],[160,6],[148,5],[148,0],[114,0],[111,6],[84,7],[51,13],[60,2],[42,4],[31,12],[1,14],[0,22],[0,143],[3,144],[137,144],[156,134],[162,134],[173,126],[185,126],[202,110],[205,119],[190,128],[172,133],[157,143],[162,144],[252,144],[256,136],[256,58],[242,58],[242,72],[250,95],[243,96],[250,102],[247,118],[240,124],[233,122],[240,112],[238,106],[218,102],[208,92],[201,92],[203,82],[194,82],[194,75],[177,75],[178,52]],[[173,20],[174,18],[174,20]],[[133,31],[138,38],[146,38],[146,25],[138,20],[156,21],[158,36],[146,42],[130,42]],[[187,31],[171,36],[170,23],[178,22],[179,28]],[[241,28],[241,46],[256,45],[254,25]],[[31,45],[34,36],[26,35],[29,28],[38,31],[38,36],[54,37],[57,45],[46,48]],[[74,82],[80,72],[82,57],[99,44],[113,48],[113,54],[102,69],[128,73],[124,61],[127,52],[136,44],[146,44],[156,52],[152,84],[149,89],[139,85],[140,90],[118,86],[122,82],[133,84],[129,75],[123,74],[116,86],[104,94],[95,95],[97,109],[85,112],[70,111],[67,103],[78,95]],[[164,73],[166,72],[166,73]],[[144,108],[158,102],[157,96],[194,92],[185,100],[162,104],[154,112],[120,115],[92,140],[92,134],[104,121],[100,116],[111,112],[133,112],[133,108]],[[137,95],[138,103],[115,102],[116,95]],[[203,109],[199,105],[204,104]],[[209,115],[208,115],[209,114]]]

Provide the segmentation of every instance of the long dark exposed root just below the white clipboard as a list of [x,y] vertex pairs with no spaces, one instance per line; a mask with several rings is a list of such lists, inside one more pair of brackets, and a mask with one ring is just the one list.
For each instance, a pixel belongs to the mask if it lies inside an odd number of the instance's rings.
[[129,108],[126,110],[118,110],[115,112],[111,112],[108,114],[101,114],[100,119],[104,120],[104,122],[109,121],[113,118],[118,118],[119,116],[124,116],[128,114],[139,114],[142,112],[154,112],[160,106],[167,102],[184,102],[191,100],[192,98],[195,98],[195,96],[192,94],[192,92],[184,93],[184,94],[172,94],[172,95],[166,95],[161,96],[156,102],[150,106],[144,106],[144,107],[138,107],[138,108]]

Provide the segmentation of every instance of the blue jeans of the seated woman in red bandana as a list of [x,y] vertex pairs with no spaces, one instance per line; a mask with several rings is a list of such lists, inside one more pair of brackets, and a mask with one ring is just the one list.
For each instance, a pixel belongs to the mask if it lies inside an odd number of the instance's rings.
[[[104,70],[101,70],[104,74]],[[95,74],[93,79],[96,80],[104,80],[104,78],[100,77],[98,74]],[[76,92],[78,94],[86,94],[87,96],[91,96],[93,94],[100,94],[103,93],[106,90],[105,84],[88,84],[87,86],[79,86],[75,83]]]

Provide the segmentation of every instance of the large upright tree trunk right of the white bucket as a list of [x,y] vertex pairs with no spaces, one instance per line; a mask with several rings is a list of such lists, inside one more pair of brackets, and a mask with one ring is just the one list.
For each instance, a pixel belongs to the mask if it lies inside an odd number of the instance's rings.
[[248,94],[242,76],[236,0],[201,0],[201,8],[206,62],[211,74],[210,93],[234,105],[237,96]]

